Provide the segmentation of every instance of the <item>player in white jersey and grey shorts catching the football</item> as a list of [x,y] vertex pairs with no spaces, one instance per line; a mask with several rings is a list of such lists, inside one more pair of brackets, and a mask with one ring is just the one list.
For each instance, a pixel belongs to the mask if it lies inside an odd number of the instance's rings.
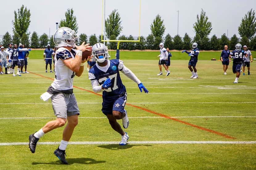
[[[75,37],[75,34],[76,32],[72,29],[61,27],[53,35],[54,44],[59,47],[54,57],[55,79],[47,92],[40,98],[44,101],[51,98],[56,120],[47,122],[39,131],[29,136],[29,148],[32,153],[35,153],[36,143],[40,137],[53,129],[64,126],[68,121],[63,131],[60,146],[54,151],[54,154],[64,164],[68,164],[65,159],[65,149],[78,123],[78,115],[80,114],[73,94],[73,78],[75,75],[82,75],[85,65],[85,60],[82,61],[82,52],[90,50],[88,49],[90,48],[89,44],[85,44],[85,42],[76,46],[75,42],[78,37]],[[77,50],[74,50],[74,47]]]

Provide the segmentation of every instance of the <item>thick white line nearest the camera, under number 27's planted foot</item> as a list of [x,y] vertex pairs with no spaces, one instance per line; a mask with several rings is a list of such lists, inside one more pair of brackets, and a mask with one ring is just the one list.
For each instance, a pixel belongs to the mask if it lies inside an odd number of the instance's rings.
[[[60,145],[60,142],[38,142],[39,145]],[[118,141],[68,142],[68,145],[111,145]],[[256,141],[129,141],[129,144],[256,144]],[[28,145],[28,142],[3,142],[0,146]]]

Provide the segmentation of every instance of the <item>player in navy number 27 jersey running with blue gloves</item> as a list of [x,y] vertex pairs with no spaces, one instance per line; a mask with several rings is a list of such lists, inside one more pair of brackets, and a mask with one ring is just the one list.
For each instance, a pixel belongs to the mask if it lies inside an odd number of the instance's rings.
[[122,60],[108,60],[110,56],[104,44],[94,44],[92,47],[92,55],[92,60],[97,61],[89,70],[89,79],[91,80],[93,91],[96,93],[103,91],[101,111],[107,116],[111,127],[121,134],[119,145],[126,145],[129,136],[122,130],[117,122],[117,119],[122,119],[124,128],[127,128],[129,125],[127,111],[124,109],[127,93],[120,78],[120,71],[137,83],[141,92],[143,89],[145,93],[148,93],[148,90],[134,73],[125,67]]

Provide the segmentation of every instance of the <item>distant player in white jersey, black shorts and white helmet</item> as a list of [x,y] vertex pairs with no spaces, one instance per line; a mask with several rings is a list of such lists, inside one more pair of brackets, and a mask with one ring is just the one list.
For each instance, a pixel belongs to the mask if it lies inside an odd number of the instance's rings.
[[168,60],[168,52],[167,50],[163,47],[163,43],[159,44],[159,48],[160,48],[160,54],[158,55],[159,58],[159,62],[158,62],[158,66],[159,66],[159,70],[160,72],[157,75],[162,75],[162,65],[165,68],[165,70],[167,71],[166,76],[168,76],[170,74],[170,71],[168,70],[167,66],[166,66],[166,60]]

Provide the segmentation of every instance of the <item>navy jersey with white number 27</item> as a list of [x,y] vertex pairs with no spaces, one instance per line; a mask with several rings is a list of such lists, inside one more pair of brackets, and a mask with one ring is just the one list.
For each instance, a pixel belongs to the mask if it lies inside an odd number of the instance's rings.
[[109,96],[122,96],[126,92],[126,88],[122,83],[120,78],[119,71],[122,71],[122,68],[118,68],[119,64],[123,65],[118,59],[108,60],[109,68],[106,72],[101,71],[97,65],[92,67],[89,71],[90,80],[98,80],[98,83],[101,85],[104,81],[109,78],[111,79],[111,86],[103,91],[103,98]]

